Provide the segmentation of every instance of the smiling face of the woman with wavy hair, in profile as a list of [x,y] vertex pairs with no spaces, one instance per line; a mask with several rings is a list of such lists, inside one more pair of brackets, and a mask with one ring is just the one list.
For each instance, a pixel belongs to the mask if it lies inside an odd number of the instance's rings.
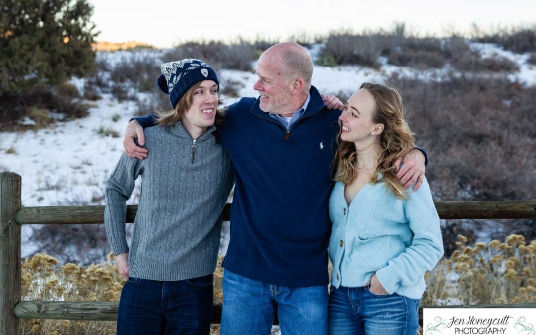
[[379,142],[377,135],[382,132],[383,124],[374,123],[375,113],[376,102],[373,95],[365,88],[355,92],[339,116],[342,123],[340,138],[355,143],[358,148]]

